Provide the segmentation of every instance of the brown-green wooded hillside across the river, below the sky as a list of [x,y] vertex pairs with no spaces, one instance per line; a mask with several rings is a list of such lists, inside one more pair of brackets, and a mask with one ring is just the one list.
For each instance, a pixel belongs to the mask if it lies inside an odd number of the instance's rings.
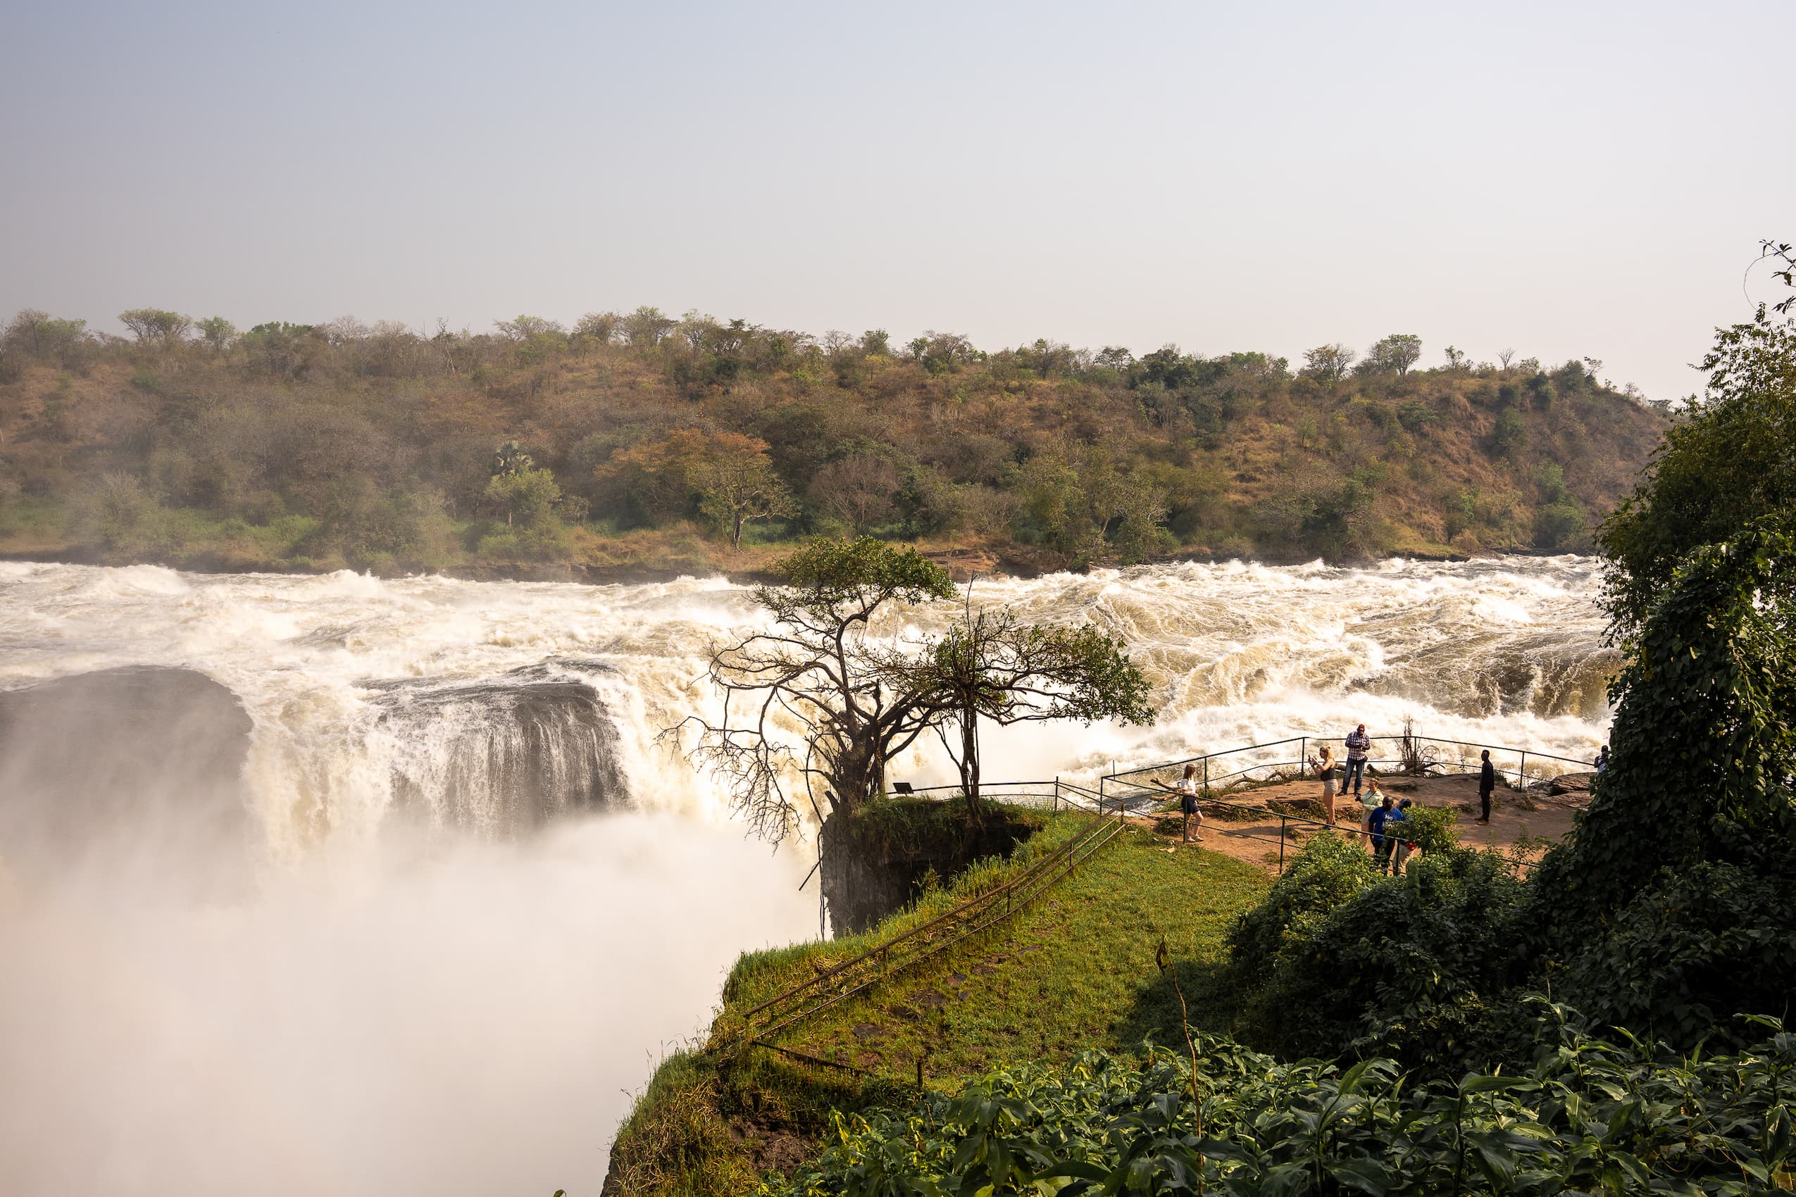
[[751,565],[869,531],[1033,567],[1584,549],[1663,406],[1503,354],[986,352],[641,307],[573,328],[0,334],[0,549],[278,567]]

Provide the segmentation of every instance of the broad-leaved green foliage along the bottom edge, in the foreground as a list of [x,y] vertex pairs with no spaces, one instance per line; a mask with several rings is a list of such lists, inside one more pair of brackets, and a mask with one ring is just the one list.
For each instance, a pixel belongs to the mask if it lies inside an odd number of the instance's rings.
[[[1579,1034],[1532,1068],[1421,1082],[1388,1059],[1286,1064],[1196,1034],[1182,1052],[1020,1064],[911,1111],[835,1116],[763,1197],[1762,1193],[1789,1177],[1796,1034],[1672,1055]],[[1557,1027],[1557,1032],[1554,1028]]]

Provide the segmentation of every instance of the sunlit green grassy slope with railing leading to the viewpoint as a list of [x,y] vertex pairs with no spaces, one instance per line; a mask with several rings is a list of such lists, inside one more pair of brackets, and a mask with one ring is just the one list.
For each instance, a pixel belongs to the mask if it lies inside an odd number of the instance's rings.
[[[1060,815],[1006,863],[975,867],[866,935],[744,957],[715,1023],[866,951],[1052,851],[1083,822]],[[1193,1021],[1225,1027],[1209,994],[1227,928],[1270,879],[1252,865],[1128,831],[1006,926],[828,1010],[781,1046],[855,1070],[749,1050],[663,1062],[618,1131],[611,1192],[740,1193],[769,1168],[808,1158],[835,1109],[905,1102],[918,1059],[925,1084],[957,1091],[990,1066],[1065,1061],[1090,1046],[1130,1048],[1178,1034],[1171,985],[1155,965],[1164,935],[1182,967]]]

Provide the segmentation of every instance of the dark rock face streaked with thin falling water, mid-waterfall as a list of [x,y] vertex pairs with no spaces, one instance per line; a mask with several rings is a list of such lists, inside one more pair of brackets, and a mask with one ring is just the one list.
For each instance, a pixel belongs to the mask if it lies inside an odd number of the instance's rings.
[[408,815],[506,834],[629,800],[611,712],[550,666],[492,682],[374,689],[384,691],[381,723],[395,736],[393,788]]

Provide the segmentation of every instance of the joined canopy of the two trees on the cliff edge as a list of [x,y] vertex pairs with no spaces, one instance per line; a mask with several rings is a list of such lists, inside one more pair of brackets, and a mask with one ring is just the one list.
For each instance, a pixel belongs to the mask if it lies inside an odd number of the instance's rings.
[[[690,718],[695,763],[711,768],[763,836],[794,826],[803,788],[819,818],[885,788],[887,763],[936,729],[979,809],[979,721],[1117,718],[1153,721],[1148,680],[1121,641],[1096,626],[1038,628],[975,610],[939,635],[873,635],[893,605],[957,594],[946,571],[873,537],[815,540],[756,589],[774,625],[717,648],[717,720]],[[952,734],[950,734],[952,725]]]

